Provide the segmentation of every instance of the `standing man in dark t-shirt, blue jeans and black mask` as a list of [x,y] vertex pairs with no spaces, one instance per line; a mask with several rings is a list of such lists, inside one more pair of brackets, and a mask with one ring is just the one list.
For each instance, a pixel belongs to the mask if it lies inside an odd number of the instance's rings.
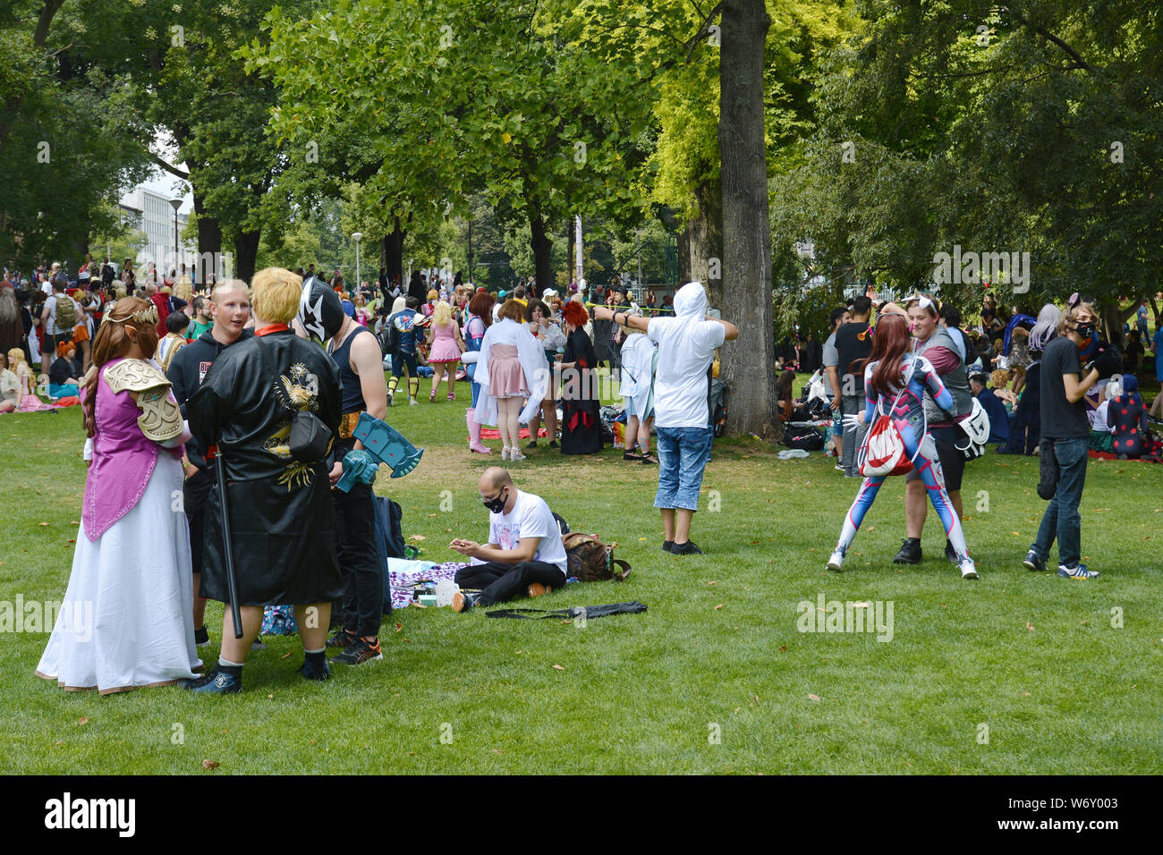
[[1022,561],[1029,570],[1044,571],[1050,547],[1057,539],[1058,576],[1072,579],[1098,576],[1097,571],[1079,563],[1082,518],[1078,503],[1086,482],[1090,447],[1090,420],[1084,399],[1086,390],[1100,377],[1110,377],[1121,368],[1107,364],[1120,362],[1113,349],[1083,368],[1079,352],[1098,336],[1093,320],[1085,306],[1075,308],[1058,326],[1058,337],[1047,344],[1042,354],[1042,439],[1039,442],[1042,483],[1039,494],[1046,498],[1053,490],[1054,496],[1042,515],[1037,539]]

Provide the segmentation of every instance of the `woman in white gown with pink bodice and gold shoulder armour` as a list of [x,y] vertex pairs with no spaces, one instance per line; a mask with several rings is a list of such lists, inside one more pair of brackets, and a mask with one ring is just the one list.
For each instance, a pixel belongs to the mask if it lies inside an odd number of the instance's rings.
[[201,668],[179,462],[190,434],[156,348],[157,308],[136,297],[117,300],[93,341],[80,534],[36,668],[70,691],[169,685]]

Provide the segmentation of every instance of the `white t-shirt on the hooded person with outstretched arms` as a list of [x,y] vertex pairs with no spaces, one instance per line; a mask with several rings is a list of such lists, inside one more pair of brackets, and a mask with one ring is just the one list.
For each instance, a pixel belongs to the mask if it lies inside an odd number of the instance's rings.
[[651,318],[647,335],[658,344],[655,427],[711,427],[707,369],[727,329],[719,321]]

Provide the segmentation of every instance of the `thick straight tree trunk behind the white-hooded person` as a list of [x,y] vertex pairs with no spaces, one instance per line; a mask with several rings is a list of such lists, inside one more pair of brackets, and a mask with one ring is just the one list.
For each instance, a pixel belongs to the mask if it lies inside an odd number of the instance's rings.
[[740,329],[722,350],[730,386],[727,430],[777,440],[771,316],[771,233],[763,133],[763,62],[771,19],[764,0],[726,0],[719,59],[723,276],[722,313]]

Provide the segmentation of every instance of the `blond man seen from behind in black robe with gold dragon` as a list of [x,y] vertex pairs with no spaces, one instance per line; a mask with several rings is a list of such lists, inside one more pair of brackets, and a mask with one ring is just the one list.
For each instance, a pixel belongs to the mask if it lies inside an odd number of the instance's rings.
[[[267,605],[294,606],[305,653],[300,674],[330,677],[323,655],[330,604],[343,593],[328,480],[328,453],[340,425],[338,369],[288,326],[302,292],[298,276],[269,268],[255,276],[251,292],[255,335],[219,356],[186,405],[199,447],[214,447],[226,466],[243,635],[235,639],[227,608],[217,667],[186,686],[201,692],[242,689],[242,667]],[[322,422],[317,458],[292,456],[297,412]],[[295,455],[302,457],[298,449]],[[221,500],[215,489],[206,507],[201,596],[227,603]]]

